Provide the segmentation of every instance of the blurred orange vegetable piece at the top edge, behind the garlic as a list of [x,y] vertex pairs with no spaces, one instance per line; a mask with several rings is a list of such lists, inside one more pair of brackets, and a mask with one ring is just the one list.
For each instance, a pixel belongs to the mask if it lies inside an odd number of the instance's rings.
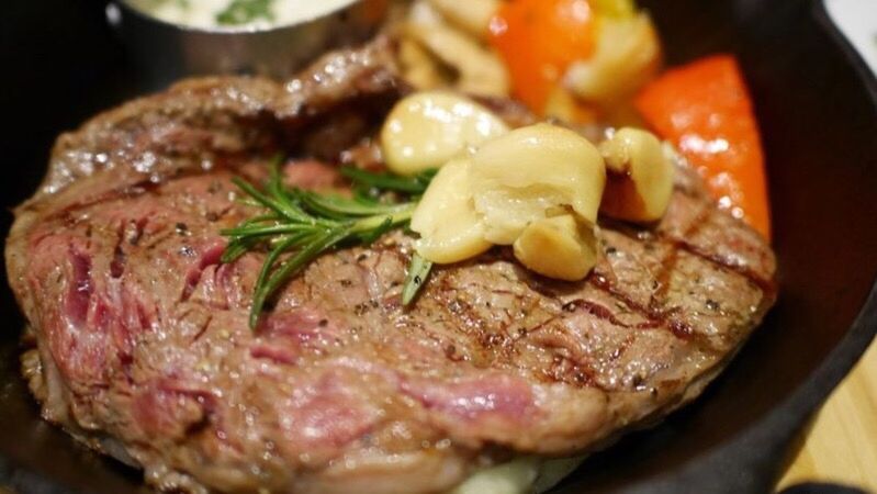
[[537,113],[570,64],[594,52],[594,12],[587,0],[511,0],[490,31],[514,96]]

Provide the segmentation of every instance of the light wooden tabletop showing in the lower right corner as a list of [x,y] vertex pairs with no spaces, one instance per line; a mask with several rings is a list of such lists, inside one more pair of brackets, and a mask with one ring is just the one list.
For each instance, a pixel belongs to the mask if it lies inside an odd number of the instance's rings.
[[777,489],[835,482],[877,493],[877,343],[816,416]]

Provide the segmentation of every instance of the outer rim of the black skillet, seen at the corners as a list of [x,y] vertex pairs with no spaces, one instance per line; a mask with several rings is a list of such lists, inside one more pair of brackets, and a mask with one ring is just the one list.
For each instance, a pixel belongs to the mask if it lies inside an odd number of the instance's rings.
[[[824,1],[811,0],[810,3],[810,11],[817,23],[854,67],[867,90],[872,111],[877,112],[877,78],[831,20]],[[729,442],[673,472],[634,484],[625,492],[672,494],[683,487],[686,492],[704,493],[769,492],[782,473],[782,459],[786,457],[795,436],[861,359],[875,336],[877,280],[841,341],[780,405]],[[717,482],[717,479],[721,479],[721,482]],[[13,465],[0,457],[0,485],[2,484],[20,490],[23,494],[78,494],[53,479]]]

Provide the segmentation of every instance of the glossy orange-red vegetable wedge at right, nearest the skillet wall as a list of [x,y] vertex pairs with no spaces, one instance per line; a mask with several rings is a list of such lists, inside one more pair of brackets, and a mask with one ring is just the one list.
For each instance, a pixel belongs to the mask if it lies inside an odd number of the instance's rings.
[[733,56],[667,70],[643,88],[636,105],[697,167],[721,206],[771,237],[758,125]]

